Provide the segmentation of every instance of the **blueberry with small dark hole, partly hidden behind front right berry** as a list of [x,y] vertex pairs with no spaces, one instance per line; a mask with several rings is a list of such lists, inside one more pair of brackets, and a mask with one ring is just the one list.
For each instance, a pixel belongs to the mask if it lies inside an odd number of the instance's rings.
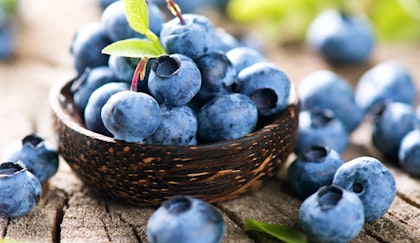
[[365,209],[365,221],[382,217],[396,195],[394,176],[379,160],[359,157],[344,163],[336,171],[333,184],[355,192]]

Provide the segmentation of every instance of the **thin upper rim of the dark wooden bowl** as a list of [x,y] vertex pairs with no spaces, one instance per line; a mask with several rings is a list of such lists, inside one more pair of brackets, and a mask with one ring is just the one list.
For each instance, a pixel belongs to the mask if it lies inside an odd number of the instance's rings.
[[[49,92],[49,103],[52,111],[57,116],[59,120],[61,120],[67,127],[71,128],[72,130],[76,131],[79,134],[83,134],[84,136],[88,136],[94,139],[101,140],[104,143],[111,143],[111,144],[129,144],[130,146],[141,146],[141,147],[150,147],[150,148],[161,148],[161,149],[179,149],[179,148],[186,148],[186,149],[214,149],[219,147],[226,147],[231,144],[241,144],[243,141],[253,139],[256,136],[261,136],[264,133],[266,128],[270,128],[270,126],[277,126],[281,120],[281,115],[285,112],[285,110],[290,106],[298,106],[299,105],[299,98],[297,95],[297,90],[292,81],[290,81],[290,92],[289,98],[286,107],[275,116],[275,118],[268,124],[263,125],[262,127],[258,128],[257,130],[243,136],[240,138],[224,140],[219,142],[211,142],[211,143],[204,143],[204,144],[197,144],[197,145],[161,145],[161,144],[145,144],[140,142],[126,142],[123,140],[115,140],[112,137],[96,133],[94,131],[89,130],[86,128],[81,122],[77,121],[69,112],[66,112],[66,109],[63,108],[63,103],[67,101],[68,98],[65,97],[63,94],[63,90],[70,89],[71,84],[74,82],[76,78],[69,79],[61,79],[54,83]],[[296,116],[297,114],[295,114]]]

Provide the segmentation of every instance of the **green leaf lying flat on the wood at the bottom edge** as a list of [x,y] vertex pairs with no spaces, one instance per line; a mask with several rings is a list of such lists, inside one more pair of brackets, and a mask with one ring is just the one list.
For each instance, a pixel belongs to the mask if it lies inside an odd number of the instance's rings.
[[269,224],[265,222],[254,221],[248,218],[245,220],[245,230],[263,232],[287,243],[308,242],[308,239],[302,232],[281,224]]

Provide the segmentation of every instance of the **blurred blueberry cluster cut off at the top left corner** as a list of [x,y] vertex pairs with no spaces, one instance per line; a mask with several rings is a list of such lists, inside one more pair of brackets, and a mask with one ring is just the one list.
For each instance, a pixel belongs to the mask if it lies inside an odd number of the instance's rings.
[[0,60],[9,58],[15,43],[15,12],[18,0],[0,1]]

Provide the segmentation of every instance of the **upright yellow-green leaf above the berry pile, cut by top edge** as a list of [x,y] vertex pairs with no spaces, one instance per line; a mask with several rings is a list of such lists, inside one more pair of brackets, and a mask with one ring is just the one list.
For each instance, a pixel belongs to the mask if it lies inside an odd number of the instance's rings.
[[149,12],[146,0],[124,0],[124,8],[130,27],[145,35],[149,31]]

